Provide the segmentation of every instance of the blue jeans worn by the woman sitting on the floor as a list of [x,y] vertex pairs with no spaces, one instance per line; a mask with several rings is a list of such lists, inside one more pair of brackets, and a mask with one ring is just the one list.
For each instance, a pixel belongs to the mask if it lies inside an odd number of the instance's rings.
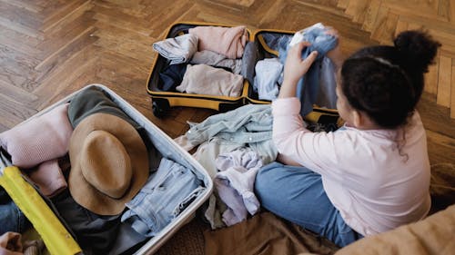
[[272,162],[259,170],[255,192],[262,207],[340,247],[359,240],[329,201],[319,173],[305,167]]

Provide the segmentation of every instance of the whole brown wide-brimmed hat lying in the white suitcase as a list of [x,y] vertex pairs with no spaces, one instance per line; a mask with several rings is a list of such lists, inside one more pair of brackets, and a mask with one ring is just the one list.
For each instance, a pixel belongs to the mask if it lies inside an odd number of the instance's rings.
[[71,195],[100,215],[122,212],[148,178],[146,145],[130,123],[112,114],[94,113],[76,126],[69,159]]

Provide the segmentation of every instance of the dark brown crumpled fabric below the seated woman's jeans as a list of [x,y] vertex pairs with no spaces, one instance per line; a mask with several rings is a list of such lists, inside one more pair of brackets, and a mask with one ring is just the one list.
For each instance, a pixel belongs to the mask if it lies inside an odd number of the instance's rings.
[[261,212],[225,229],[207,230],[204,239],[206,255],[333,254],[338,250],[329,240],[280,220],[270,212]]

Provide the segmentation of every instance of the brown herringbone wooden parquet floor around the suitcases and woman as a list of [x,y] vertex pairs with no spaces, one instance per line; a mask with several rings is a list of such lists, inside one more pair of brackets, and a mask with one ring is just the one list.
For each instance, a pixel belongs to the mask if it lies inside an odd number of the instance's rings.
[[344,54],[423,27],[440,40],[419,110],[430,162],[455,162],[455,2],[451,0],[0,0],[0,132],[88,83],[103,83],[171,137],[211,110],[151,111],[151,44],[177,21],[339,30]]

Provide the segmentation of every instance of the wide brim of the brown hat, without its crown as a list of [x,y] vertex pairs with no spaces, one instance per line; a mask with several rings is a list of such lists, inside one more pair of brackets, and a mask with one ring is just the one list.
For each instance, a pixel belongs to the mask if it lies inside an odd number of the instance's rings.
[[[131,160],[131,185],[125,195],[114,199],[98,191],[82,174],[81,150],[86,136],[93,131],[110,132],[124,145]],[[71,171],[68,188],[73,199],[87,210],[100,215],[116,215],[125,210],[125,203],[133,199],[148,178],[147,148],[136,129],[120,117],[107,113],[94,113],[83,119],[71,135],[69,142]]]

